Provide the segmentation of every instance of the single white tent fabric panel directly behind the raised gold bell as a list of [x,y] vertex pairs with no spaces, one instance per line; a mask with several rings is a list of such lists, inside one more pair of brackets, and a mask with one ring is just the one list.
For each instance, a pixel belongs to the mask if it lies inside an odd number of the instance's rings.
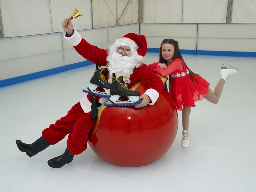
[[64,18],[71,17],[75,7],[82,17],[72,19],[76,30],[92,28],[90,0],[50,0],[53,32],[64,31],[61,24]]

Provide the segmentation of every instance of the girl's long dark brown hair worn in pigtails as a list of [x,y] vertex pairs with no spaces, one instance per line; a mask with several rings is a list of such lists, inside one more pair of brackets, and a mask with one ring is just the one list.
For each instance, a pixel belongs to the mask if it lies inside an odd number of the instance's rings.
[[[196,81],[197,81],[197,78],[196,76],[198,74],[194,73],[193,71],[191,71],[187,64],[185,63],[181,53],[180,53],[180,48],[179,48],[179,43],[178,41],[175,41],[174,39],[164,39],[164,41],[162,41],[161,43],[161,46],[160,46],[160,50],[159,50],[159,62],[160,63],[165,63],[168,65],[167,63],[167,60],[164,59],[164,57],[162,56],[162,46],[163,44],[171,44],[173,45],[174,47],[174,54],[173,54],[173,57],[172,57],[172,61],[175,60],[176,58],[180,59],[182,61],[182,63],[186,66],[186,68],[188,69],[188,72],[189,72],[189,76],[191,77],[193,83],[194,83],[194,80],[193,80],[193,76],[195,77]],[[172,63],[172,62],[171,62]],[[170,63],[170,65],[171,65]],[[169,85],[171,85],[171,74],[169,75]],[[167,89],[167,85],[165,84],[164,85],[165,89]]]

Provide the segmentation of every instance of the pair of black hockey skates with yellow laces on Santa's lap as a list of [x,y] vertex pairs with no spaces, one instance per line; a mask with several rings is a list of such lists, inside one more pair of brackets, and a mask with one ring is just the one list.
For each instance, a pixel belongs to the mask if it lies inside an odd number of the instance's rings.
[[[108,69],[106,67],[100,69],[98,63],[88,90],[83,90],[83,92],[109,98],[108,103],[105,103],[104,106],[134,106],[141,103],[140,92],[127,89],[124,86],[123,76],[116,78],[115,73],[113,73],[112,84],[110,84],[106,79],[107,72]],[[105,92],[96,90],[98,87],[104,89]],[[120,97],[128,98],[128,100],[118,100]]]

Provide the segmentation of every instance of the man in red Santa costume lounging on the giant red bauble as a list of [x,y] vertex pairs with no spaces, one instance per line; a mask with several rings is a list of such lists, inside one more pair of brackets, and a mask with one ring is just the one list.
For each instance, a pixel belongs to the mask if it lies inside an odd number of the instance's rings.
[[[112,82],[112,72],[116,76],[126,76],[125,86],[131,86],[137,81],[141,81],[148,89],[140,96],[142,102],[136,105],[136,108],[146,105],[153,105],[159,94],[162,92],[162,81],[151,72],[143,62],[143,56],[147,52],[147,42],[145,36],[139,36],[134,33],[128,33],[120,39],[117,39],[108,50],[100,49],[97,46],[89,44],[80,34],[73,29],[70,18],[62,22],[62,27],[66,31],[64,38],[81,54],[85,59],[93,63],[100,63],[106,66],[108,63],[107,79]],[[104,103],[106,98],[96,98],[99,103]],[[54,145],[62,140],[67,134],[67,148],[65,152],[48,161],[49,166],[60,168],[70,163],[74,155],[82,153],[87,148],[88,134],[92,129],[95,118],[91,118],[92,100],[89,94],[86,94],[78,103],[76,103],[64,117],[61,117],[50,124],[42,132],[42,136],[32,144],[23,143],[16,140],[20,151],[26,152],[28,156],[34,156],[50,145]]]

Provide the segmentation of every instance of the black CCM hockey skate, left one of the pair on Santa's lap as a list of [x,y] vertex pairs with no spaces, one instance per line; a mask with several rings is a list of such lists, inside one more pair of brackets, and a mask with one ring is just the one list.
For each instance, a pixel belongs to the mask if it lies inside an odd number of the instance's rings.
[[[96,95],[99,97],[110,97],[110,87],[111,84],[106,79],[106,74],[108,72],[108,68],[104,67],[100,69],[100,64],[96,64],[96,70],[90,80],[90,85],[87,88],[88,90],[84,90],[83,92],[86,92],[88,94]],[[103,88],[105,92],[100,92],[96,90],[98,87]]]

